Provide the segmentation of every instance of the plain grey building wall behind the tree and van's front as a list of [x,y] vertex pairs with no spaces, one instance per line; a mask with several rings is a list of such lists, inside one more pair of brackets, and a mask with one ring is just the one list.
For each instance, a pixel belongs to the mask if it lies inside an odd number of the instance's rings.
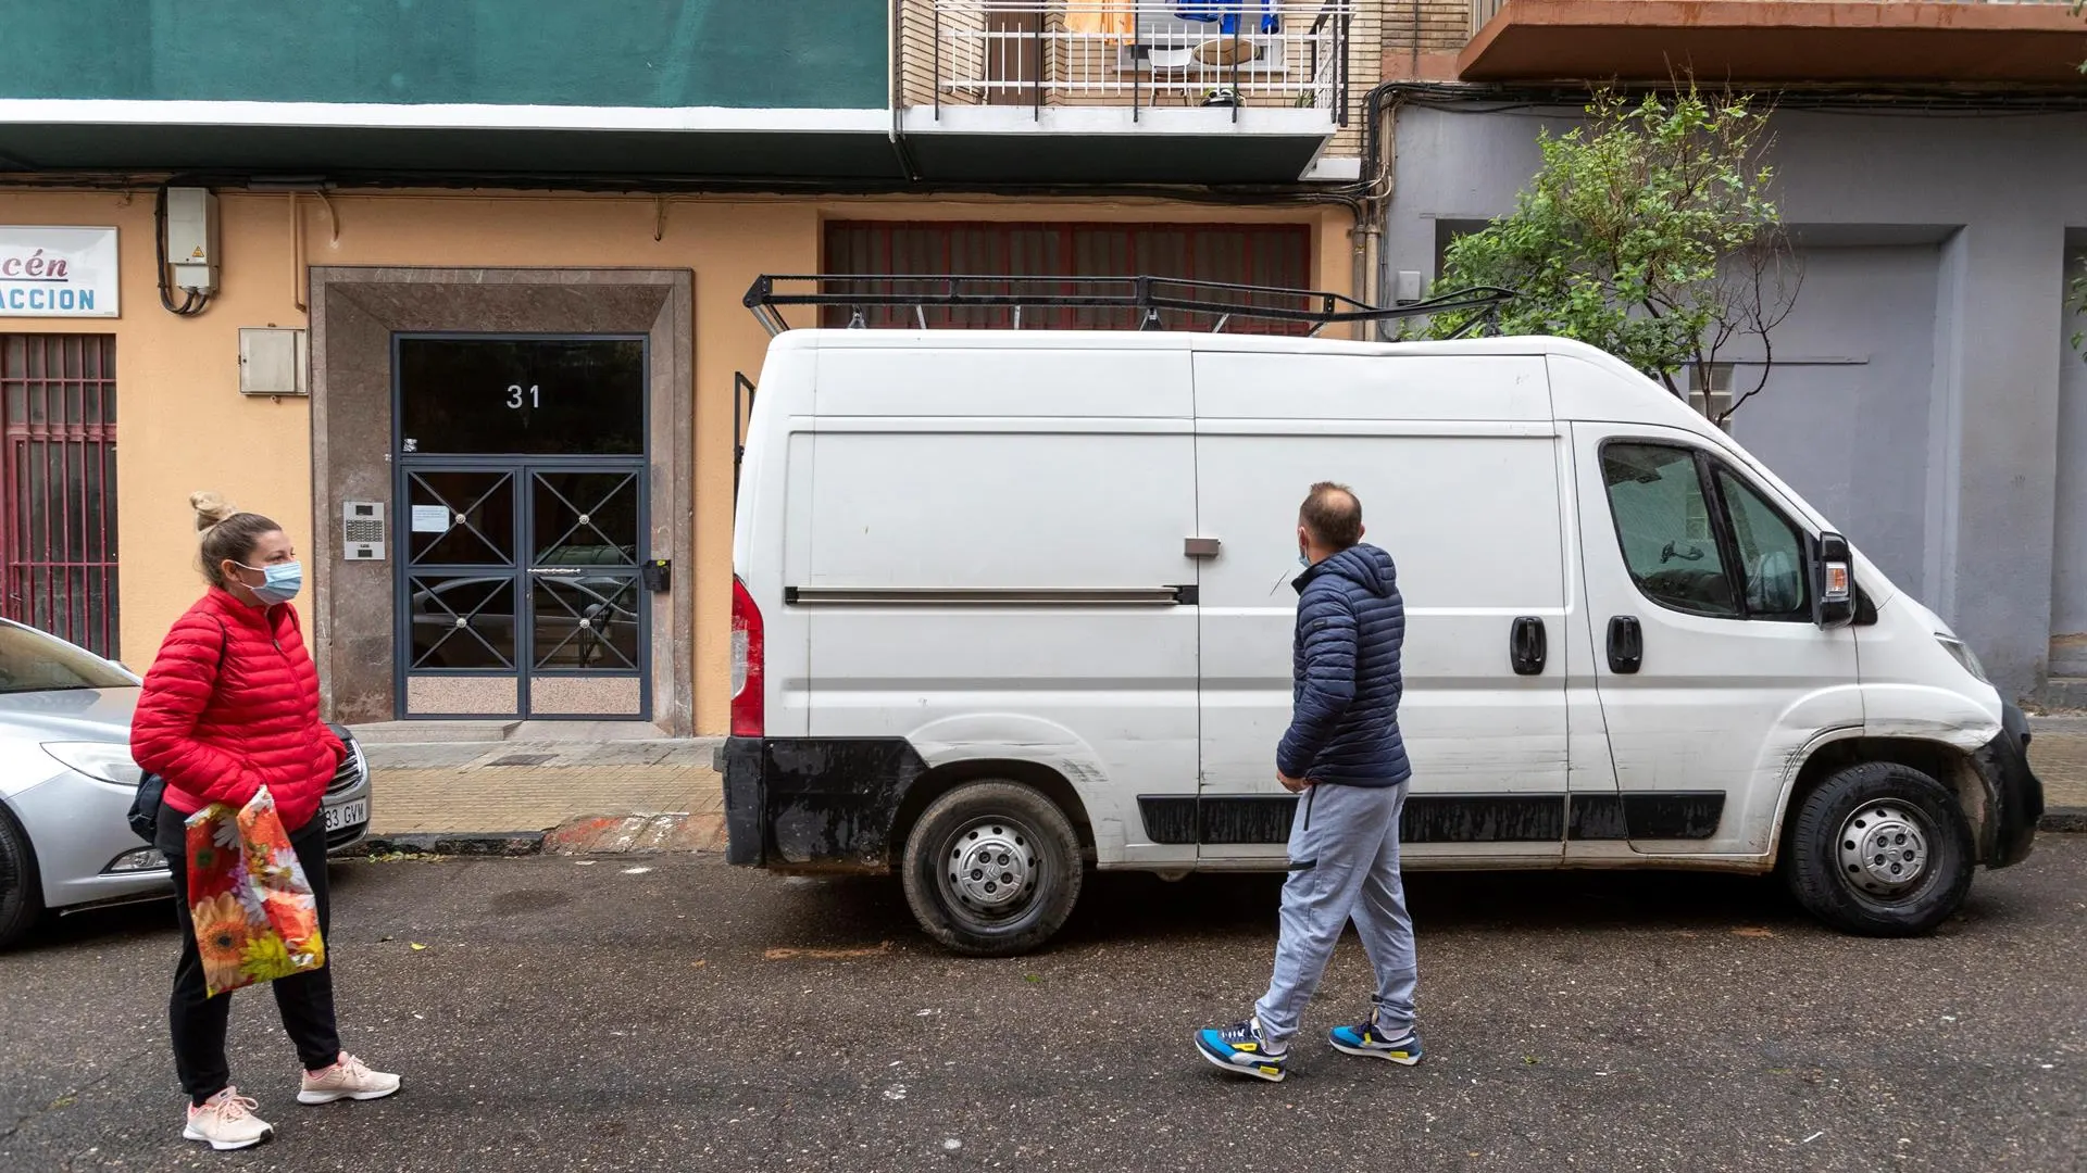
[[[1444,221],[1511,211],[1540,125],[1569,111],[1405,109],[1386,267],[1434,276]],[[2060,417],[2062,382],[2087,397],[2060,305],[2083,142],[2087,115],[1778,115],[1807,278],[1776,357],[1799,361],[1734,426],[2014,695],[2087,632],[2087,476],[2058,472],[2062,422],[2087,453],[2087,401]]]

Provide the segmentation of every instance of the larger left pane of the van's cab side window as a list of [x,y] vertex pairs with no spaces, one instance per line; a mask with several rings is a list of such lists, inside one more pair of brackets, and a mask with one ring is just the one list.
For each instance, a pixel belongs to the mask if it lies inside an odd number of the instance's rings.
[[1738,616],[1695,453],[1663,445],[1601,451],[1615,536],[1647,599],[1699,616]]

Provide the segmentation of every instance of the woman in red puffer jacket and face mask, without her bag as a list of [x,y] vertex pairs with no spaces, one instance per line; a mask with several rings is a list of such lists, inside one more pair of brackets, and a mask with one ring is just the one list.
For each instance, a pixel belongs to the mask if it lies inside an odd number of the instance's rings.
[[[303,584],[296,547],[275,522],[240,513],[217,495],[198,493],[190,505],[211,589],[173,624],[146,672],[131,718],[131,758],[167,781],[154,845],[173,870],[182,923],[182,962],[167,1006],[173,1067],[188,1092],[182,1135],[211,1148],[246,1148],[267,1140],[273,1127],[255,1117],[259,1104],[232,1085],[225,1058],[232,996],[211,998],[205,983],[202,954],[213,941],[196,941],[190,918],[186,820],[215,801],[244,806],[267,787],[311,881],[323,935],[328,885],[319,799],[346,749],[319,720],[319,672],[290,605]],[[271,985],[282,1025],[305,1062],[301,1104],[376,1100],[399,1090],[397,1075],[369,1071],[340,1050],[330,964]]]

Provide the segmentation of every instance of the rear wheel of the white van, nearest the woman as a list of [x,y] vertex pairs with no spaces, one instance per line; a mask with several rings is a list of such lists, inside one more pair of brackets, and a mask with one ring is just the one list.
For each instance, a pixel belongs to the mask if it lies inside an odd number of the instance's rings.
[[1085,879],[1064,812],[1016,783],[968,783],[935,799],[906,837],[902,875],[920,927],[973,956],[1048,941]]

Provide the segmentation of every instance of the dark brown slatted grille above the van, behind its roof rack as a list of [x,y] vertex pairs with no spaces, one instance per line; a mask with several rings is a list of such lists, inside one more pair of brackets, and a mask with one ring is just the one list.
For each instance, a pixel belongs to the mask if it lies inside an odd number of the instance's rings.
[[[1240,223],[968,223],[968,221],[835,221],[826,225],[831,276],[1006,276],[1006,278],[1179,278],[1279,290],[1309,290],[1311,228]],[[914,292],[902,282],[858,292]],[[995,292],[979,284],[973,292]],[[1016,292],[1014,286],[998,292]],[[1035,292],[1025,286],[1021,292]],[[1077,292],[1066,286],[1064,292]],[[1275,305],[1284,298],[1269,298]],[[1294,301],[1294,298],[1290,298]],[[925,321],[922,315],[925,313]],[[1210,330],[1221,313],[1185,313],[1171,330]],[[845,328],[849,307],[826,307],[820,326]],[[1006,307],[868,307],[864,326],[910,330],[1012,330]],[[1023,330],[1137,330],[1135,309],[1033,307]],[[1236,319],[1233,334],[1309,334],[1311,324]]]

